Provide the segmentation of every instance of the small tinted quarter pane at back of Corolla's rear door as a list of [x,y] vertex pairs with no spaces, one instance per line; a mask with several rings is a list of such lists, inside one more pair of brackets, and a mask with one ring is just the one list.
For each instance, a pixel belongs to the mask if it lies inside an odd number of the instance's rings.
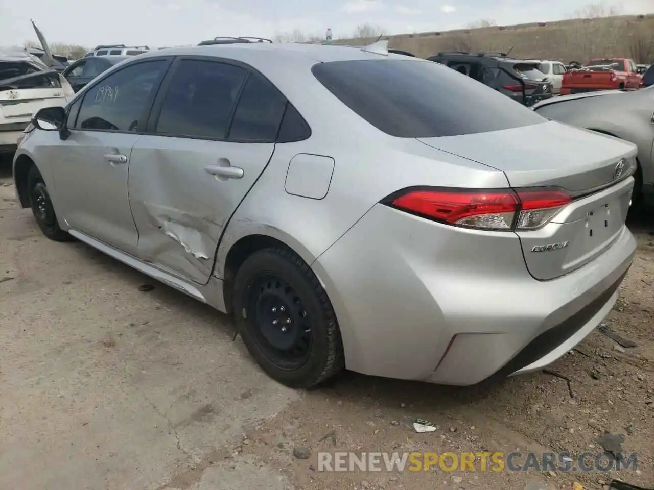
[[252,73],[245,83],[232,121],[229,139],[273,142],[284,116],[286,99],[262,76]]

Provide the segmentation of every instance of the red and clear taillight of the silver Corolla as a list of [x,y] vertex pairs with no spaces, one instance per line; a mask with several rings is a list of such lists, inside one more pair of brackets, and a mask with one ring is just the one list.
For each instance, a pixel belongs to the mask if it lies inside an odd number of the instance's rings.
[[381,202],[449,225],[517,231],[544,226],[571,201],[561,189],[409,188]]

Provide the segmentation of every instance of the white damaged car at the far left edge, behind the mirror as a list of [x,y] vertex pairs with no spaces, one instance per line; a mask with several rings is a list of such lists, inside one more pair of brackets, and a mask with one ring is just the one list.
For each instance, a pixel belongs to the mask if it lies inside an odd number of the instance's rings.
[[16,150],[32,114],[43,107],[65,106],[73,95],[67,80],[37,56],[0,49],[0,154]]

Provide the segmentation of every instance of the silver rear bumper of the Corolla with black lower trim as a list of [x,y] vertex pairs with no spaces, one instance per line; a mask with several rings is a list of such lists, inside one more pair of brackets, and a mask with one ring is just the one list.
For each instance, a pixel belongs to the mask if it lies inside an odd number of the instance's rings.
[[494,235],[373,207],[312,266],[347,367],[451,385],[542,368],[606,316],[636,248],[623,227],[592,263],[538,281],[517,237]]

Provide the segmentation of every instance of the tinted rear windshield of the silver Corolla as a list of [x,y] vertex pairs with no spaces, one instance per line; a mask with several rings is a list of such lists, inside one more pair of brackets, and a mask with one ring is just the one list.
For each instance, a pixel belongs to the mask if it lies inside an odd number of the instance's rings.
[[391,136],[433,138],[547,120],[506,95],[431,61],[366,59],[313,66],[318,81]]

